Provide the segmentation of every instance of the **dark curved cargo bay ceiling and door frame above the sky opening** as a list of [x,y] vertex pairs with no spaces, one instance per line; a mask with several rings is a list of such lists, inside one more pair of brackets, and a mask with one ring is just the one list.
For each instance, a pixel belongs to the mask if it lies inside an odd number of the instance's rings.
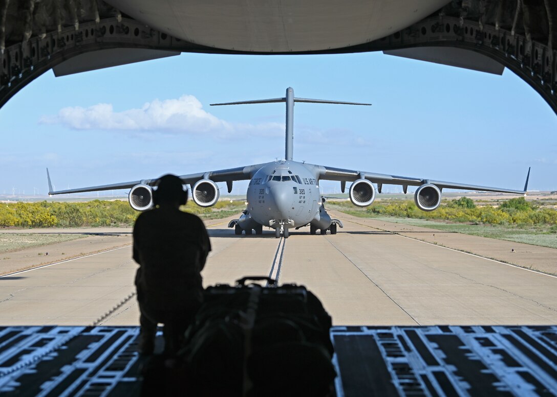
[[[557,112],[550,0],[0,0],[0,106],[57,76],[181,52],[384,51],[490,73],[507,67]],[[126,48],[115,57],[114,49]]]

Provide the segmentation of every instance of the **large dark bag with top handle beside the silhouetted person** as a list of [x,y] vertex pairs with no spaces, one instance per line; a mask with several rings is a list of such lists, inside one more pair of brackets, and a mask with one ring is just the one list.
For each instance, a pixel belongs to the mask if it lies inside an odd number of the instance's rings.
[[[246,285],[252,279],[271,286]],[[206,289],[180,351],[189,393],[334,395],[331,317],[304,286],[273,284],[245,277]]]

